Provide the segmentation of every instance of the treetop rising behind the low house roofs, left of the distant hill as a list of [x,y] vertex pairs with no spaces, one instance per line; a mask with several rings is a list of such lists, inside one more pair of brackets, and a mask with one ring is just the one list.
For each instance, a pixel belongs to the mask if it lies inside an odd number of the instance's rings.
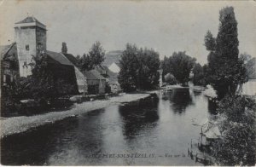
[[105,56],[105,50],[100,42],[93,43],[88,54],[77,56],[78,66],[81,71],[89,71],[95,66],[101,65]]

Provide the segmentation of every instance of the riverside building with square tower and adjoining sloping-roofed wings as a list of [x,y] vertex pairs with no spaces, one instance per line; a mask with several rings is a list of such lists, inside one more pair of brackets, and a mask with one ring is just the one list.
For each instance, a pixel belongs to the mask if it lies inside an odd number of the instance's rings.
[[[86,78],[75,66],[75,58],[73,55],[47,50],[46,32],[46,26],[31,16],[15,23],[15,43],[0,47],[1,63],[4,65],[1,75],[3,83],[12,82],[17,75],[21,78],[32,75],[32,56],[41,53],[47,55],[49,69],[53,72],[55,81],[72,84],[76,90],[73,94],[86,93]],[[17,62],[16,65],[11,66],[14,62]]]

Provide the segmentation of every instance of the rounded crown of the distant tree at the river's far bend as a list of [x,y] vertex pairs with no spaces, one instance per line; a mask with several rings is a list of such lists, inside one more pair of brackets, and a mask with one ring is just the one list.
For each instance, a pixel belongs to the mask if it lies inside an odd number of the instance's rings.
[[185,52],[174,52],[171,57],[162,61],[163,75],[172,73],[178,83],[187,83],[189,73],[195,64],[195,58],[186,55]]

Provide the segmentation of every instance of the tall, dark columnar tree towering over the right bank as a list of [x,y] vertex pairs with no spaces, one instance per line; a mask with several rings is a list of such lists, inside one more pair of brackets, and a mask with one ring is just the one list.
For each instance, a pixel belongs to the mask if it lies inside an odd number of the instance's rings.
[[[214,40],[207,32],[205,45],[208,55],[209,78],[219,98],[226,94],[234,95],[238,84],[247,82],[243,60],[238,57],[237,22],[233,7],[226,7],[219,12],[218,36]],[[215,41],[215,43],[214,43]]]

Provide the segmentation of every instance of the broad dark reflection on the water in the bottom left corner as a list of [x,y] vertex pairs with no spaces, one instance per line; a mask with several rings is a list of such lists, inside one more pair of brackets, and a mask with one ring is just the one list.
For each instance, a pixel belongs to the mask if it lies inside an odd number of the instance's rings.
[[[58,136],[69,133],[78,127],[76,118],[69,118],[67,122],[39,127],[37,130],[28,131],[18,135],[10,135],[1,140],[1,164],[6,165],[43,165],[49,155],[60,152],[58,146],[67,142],[66,138],[58,140]],[[61,127],[65,126],[65,130]]]

